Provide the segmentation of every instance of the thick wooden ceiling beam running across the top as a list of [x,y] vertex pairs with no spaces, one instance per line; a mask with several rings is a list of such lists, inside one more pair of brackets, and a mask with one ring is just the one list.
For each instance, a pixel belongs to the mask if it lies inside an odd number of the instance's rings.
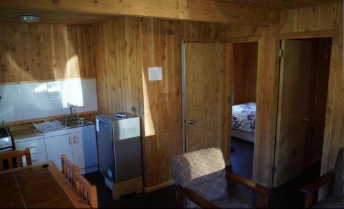
[[267,10],[230,5],[224,1],[208,0],[101,0],[81,2],[69,0],[11,0],[0,1],[0,9],[24,9],[47,12],[63,11],[260,26],[269,25]]

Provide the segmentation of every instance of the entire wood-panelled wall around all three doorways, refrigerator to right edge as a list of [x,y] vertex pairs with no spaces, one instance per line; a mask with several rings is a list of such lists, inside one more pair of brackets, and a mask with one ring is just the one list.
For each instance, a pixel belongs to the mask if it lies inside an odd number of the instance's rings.
[[[258,41],[257,115],[253,179],[272,183],[281,39],[333,36],[329,98],[325,119],[323,170],[330,170],[342,144],[342,3],[270,12],[269,28],[258,26],[118,17],[92,28],[100,113],[142,111],[144,186],[172,179],[171,157],[182,152],[180,39],[219,38],[230,43]],[[147,81],[147,67],[162,66],[162,81]],[[228,136],[229,138],[229,136]],[[325,145],[326,144],[326,145]],[[330,152],[331,150],[331,152]],[[333,150],[333,151],[332,151]]]

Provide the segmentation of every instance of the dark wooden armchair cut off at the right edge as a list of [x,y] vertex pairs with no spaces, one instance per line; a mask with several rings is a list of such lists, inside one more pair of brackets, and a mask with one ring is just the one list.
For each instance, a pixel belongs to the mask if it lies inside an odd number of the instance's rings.
[[[305,195],[305,208],[343,208],[344,207],[344,179],[343,179],[343,171],[344,171],[344,148],[341,148],[339,151],[336,164],[334,166],[334,171],[330,171],[325,173],[321,177],[318,177],[314,181],[310,182],[309,184],[303,186],[301,188],[301,192]],[[314,194],[316,193],[319,188],[323,186],[330,186],[330,194],[328,197],[323,199],[322,201],[316,202],[314,204]]]

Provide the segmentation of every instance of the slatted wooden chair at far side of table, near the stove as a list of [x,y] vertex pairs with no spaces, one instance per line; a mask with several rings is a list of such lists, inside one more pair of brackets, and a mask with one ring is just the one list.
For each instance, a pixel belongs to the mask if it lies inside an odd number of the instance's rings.
[[14,168],[13,159],[17,160],[19,167],[23,167],[23,156],[26,157],[26,164],[28,166],[32,165],[30,148],[25,148],[24,151],[8,151],[0,154],[0,170],[4,170],[3,161],[7,161],[8,169]]

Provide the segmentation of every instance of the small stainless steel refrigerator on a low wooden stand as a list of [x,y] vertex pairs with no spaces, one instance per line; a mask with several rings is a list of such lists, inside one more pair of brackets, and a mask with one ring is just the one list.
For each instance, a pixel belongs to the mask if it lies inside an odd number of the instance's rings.
[[142,175],[140,118],[125,114],[96,116],[99,170],[114,182]]

